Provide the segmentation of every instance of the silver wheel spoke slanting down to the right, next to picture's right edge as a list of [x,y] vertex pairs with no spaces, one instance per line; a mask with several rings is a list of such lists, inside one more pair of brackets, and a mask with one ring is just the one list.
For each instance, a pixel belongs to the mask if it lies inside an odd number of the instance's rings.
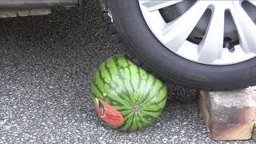
[[256,53],[256,26],[239,3],[234,5],[230,12],[238,29],[240,46],[246,53]]

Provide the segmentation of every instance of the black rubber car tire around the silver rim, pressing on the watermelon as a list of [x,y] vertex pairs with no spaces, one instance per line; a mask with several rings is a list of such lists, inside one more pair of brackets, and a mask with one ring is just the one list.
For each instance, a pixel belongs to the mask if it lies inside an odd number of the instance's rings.
[[209,65],[182,58],[155,37],[138,0],[102,1],[103,22],[128,50],[130,58],[158,78],[201,90],[234,90],[256,83],[256,58]]

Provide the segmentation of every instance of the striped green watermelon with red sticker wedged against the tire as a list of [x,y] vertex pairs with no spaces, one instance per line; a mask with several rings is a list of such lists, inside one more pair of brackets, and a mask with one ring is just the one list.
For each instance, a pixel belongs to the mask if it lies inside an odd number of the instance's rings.
[[124,55],[108,58],[95,70],[90,97],[102,121],[115,130],[149,126],[166,105],[166,86]]

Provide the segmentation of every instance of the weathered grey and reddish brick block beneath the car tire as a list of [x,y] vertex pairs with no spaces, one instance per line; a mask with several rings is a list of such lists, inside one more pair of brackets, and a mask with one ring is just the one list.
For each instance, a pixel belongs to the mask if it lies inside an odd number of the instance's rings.
[[256,115],[254,87],[199,92],[200,110],[214,140],[250,139]]

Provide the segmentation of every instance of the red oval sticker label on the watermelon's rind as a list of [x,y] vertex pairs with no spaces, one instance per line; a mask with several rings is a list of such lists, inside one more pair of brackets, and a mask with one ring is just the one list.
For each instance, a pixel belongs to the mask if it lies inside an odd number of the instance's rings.
[[101,99],[95,98],[94,107],[100,118],[112,126],[121,126],[123,123],[122,114],[113,106]]

